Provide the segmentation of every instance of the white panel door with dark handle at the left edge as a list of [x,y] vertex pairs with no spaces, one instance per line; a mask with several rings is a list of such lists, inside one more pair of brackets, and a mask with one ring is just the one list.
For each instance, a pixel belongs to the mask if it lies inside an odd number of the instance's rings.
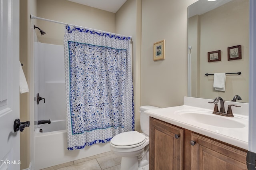
[[19,0],[0,0],[0,170],[20,170]]

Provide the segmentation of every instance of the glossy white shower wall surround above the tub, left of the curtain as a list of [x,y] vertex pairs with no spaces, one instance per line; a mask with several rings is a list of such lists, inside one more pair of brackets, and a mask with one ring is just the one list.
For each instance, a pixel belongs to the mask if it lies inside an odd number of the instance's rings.
[[[45,98],[34,101],[35,132],[52,132],[66,129],[65,71],[63,45],[34,43],[35,49],[35,93]],[[38,125],[38,121],[49,120],[51,124]]]

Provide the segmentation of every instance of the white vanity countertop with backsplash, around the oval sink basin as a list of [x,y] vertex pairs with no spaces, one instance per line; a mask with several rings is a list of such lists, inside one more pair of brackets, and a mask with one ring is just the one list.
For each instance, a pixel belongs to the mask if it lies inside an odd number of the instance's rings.
[[[186,99],[184,98],[184,104],[188,104],[187,101],[188,97]],[[200,99],[203,100],[203,99]],[[203,102],[209,101],[209,99],[205,99]],[[210,100],[211,101],[211,100]],[[201,103],[202,101],[200,101]],[[240,104],[236,102],[236,104]],[[247,104],[247,103],[246,103]],[[246,107],[246,104],[241,104],[242,107]],[[208,105],[206,103],[205,105]],[[228,107],[226,107],[227,109]],[[155,109],[150,111],[145,111],[145,114],[149,115],[150,117],[154,117],[156,119],[159,119],[161,121],[170,123],[172,125],[176,125],[188,130],[191,130],[193,132],[197,132],[200,134],[203,134],[205,136],[214,138],[216,140],[220,140],[222,142],[226,142],[228,144],[238,146],[240,148],[248,150],[248,116],[246,114],[236,114],[233,111],[234,117],[224,117],[220,115],[213,115],[216,117],[223,117],[224,120],[230,119],[232,121],[238,121],[242,124],[244,124],[244,127],[238,127],[238,128],[229,128],[229,127],[216,127],[214,125],[207,125],[204,123],[199,123],[192,121],[191,119],[186,119],[186,117],[180,116],[180,114],[177,114],[178,111],[199,111],[204,112],[206,114],[212,114],[212,109],[205,109],[202,107],[194,107],[190,105],[182,105],[182,106],[176,106],[176,107],[168,107],[163,109]],[[244,108],[246,110],[246,108]],[[212,123],[214,124],[214,123]]]

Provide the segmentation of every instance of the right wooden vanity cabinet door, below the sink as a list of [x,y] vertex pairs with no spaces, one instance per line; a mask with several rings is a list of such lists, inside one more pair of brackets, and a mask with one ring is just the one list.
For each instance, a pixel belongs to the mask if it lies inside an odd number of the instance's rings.
[[246,152],[192,133],[192,170],[247,170]]

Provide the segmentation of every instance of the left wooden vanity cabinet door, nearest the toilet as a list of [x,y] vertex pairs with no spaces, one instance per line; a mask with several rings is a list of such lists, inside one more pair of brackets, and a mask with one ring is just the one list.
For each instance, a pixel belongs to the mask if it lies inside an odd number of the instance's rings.
[[150,117],[150,170],[183,169],[183,129]]

